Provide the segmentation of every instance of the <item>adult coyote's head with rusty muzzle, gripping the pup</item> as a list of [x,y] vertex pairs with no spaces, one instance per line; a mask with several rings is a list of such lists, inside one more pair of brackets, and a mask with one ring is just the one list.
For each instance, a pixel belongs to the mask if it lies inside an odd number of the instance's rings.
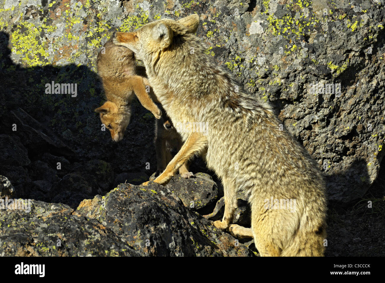
[[135,32],[115,32],[113,42],[135,52],[138,59],[149,64],[153,56],[166,50],[174,37],[193,34],[198,29],[199,16],[189,15],[180,20],[162,19],[147,23]]

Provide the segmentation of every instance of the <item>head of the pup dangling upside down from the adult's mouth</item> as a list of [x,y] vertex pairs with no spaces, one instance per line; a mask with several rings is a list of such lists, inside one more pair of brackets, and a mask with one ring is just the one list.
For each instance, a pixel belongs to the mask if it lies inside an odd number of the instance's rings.
[[113,141],[123,139],[124,132],[131,119],[131,109],[126,106],[118,107],[114,102],[107,101],[95,112],[100,113],[100,121],[110,130]]

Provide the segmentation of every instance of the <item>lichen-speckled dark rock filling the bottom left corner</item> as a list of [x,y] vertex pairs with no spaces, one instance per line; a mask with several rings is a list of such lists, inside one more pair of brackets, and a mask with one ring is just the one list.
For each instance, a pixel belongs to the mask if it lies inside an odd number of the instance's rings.
[[32,200],[0,213],[1,256],[137,256],[109,228],[64,204]]

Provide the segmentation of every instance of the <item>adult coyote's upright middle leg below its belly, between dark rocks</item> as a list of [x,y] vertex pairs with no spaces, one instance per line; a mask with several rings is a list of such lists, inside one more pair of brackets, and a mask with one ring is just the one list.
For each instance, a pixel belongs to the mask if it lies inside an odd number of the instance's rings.
[[223,179],[224,191],[224,214],[222,221],[214,221],[214,226],[218,229],[227,229],[233,221],[234,211],[238,207],[235,185]]

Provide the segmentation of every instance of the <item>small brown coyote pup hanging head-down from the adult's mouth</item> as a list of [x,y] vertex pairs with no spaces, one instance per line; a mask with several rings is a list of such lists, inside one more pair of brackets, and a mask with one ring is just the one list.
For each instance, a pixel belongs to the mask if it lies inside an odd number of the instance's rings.
[[157,119],[161,118],[161,111],[146,91],[146,87],[149,88],[148,80],[144,77],[146,70],[136,65],[134,52],[114,45],[111,40],[103,47],[104,50],[97,55],[97,70],[107,101],[95,112],[100,113],[100,121],[108,127],[112,139],[117,142],[122,140],[130,122],[134,94]]

